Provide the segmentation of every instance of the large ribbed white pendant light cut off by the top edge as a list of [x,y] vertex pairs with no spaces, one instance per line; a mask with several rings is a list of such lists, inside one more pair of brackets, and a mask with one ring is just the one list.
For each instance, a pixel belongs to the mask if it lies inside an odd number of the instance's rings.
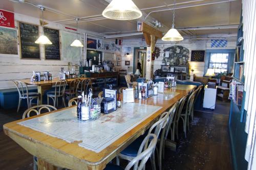
[[112,0],[102,15],[109,19],[131,20],[142,16],[142,12],[132,0]]

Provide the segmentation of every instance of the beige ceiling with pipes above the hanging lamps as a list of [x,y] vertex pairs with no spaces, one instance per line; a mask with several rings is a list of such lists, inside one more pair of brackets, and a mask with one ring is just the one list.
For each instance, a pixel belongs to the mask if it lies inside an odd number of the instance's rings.
[[[42,5],[47,8],[44,16],[45,19],[49,21],[55,21],[75,27],[76,25],[74,18],[81,18],[78,25],[80,29],[94,31],[97,33],[119,32],[113,34],[134,33],[134,31],[137,29],[137,20],[119,21],[103,18],[101,16],[101,13],[108,5],[108,2],[106,2],[105,0],[26,0],[26,2],[28,3],[15,3],[14,1],[18,0],[1,0],[0,9],[40,18],[41,12],[39,11],[39,9],[31,4],[28,4],[32,3],[34,5]],[[148,13],[155,10],[172,9],[174,4],[174,0],[133,1],[140,9],[142,9],[143,16],[146,16]],[[230,0],[177,0],[176,7],[180,9],[176,10],[176,28],[238,25],[242,7],[242,0],[231,0],[231,2],[227,1]],[[153,8],[158,6],[162,7]],[[51,10],[55,12],[52,12]],[[150,17],[153,17],[153,19],[157,19],[163,25],[167,26],[165,27],[166,30],[172,25],[173,11],[168,10],[162,12],[153,12],[150,14]],[[147,21],[148,19],[151,19],[150,17],[147,18]],[[84,19],[93,20],[89,21]],[[181,34],[183,35],[205,35],[215,33],[237,33],[237,29],[208,29],[181,32]]]

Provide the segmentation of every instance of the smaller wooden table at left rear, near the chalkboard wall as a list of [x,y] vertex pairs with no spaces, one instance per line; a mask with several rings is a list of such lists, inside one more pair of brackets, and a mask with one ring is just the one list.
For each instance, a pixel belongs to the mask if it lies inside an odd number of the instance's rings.
[[[90,78],[79,78],[79,79],[90,79]],[[42,96],[44,95],[46,90],[49,90],[52,88],[52,85],[54,85],[57,81],[59,81],[59,78],[53,78],[53,80],[49,81],[40,81],[40,82],[31,82],[30,79],[24,79],[19,80],[21,82],[24,82],[28,85],[35,85],[37,86],[37,92],[40,94],[39,104],[42,104]],[[73,81],[74,79],[66,79],[68,83]]]

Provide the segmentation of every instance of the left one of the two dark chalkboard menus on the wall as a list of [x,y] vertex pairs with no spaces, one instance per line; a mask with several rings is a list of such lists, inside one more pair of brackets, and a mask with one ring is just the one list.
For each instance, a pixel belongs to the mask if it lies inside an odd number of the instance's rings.
[[38,26],[19,22],[19,48],[20,57],[23,59],[40,59],[38,38]]

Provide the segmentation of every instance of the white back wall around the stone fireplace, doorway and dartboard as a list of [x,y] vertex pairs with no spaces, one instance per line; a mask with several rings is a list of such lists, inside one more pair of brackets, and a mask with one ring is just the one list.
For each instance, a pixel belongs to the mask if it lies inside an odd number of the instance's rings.
[[[200,36],[200,38],[210,38],[210,37],[218,37],[220,39],[223,38],[237,38],[237,34],[211,34],[207,36]],[[156,46],[160,48],[160,57],[158,59],[155,59],[154,61],[154,71],[156,69],[161,68],[161,63],[163,59],[163,50],[167,47],[173,46],[173,45],[181,45],[189,50],[189,61],[191,56],[191,50],[207,50],[207,49],[235,49],[236,48],[236,41],[235,40],[228,40],[227,47],[222,48],[212,48],[210,47],[210,40],[194,40],[197,38],[196,36],[192,37],[184,37],[184,40],[179,43],[170,43],[162,40],[157,40]],[[142,38],[127,38],[123,39],[122,46],[131,46],[132,47],[132,53],[129,57],[124,57],[124,54],[122,54],[122,69],[127,69],[127,66],[124,65],[124,61],[129,60],[131,65],[133,66],[133,54],[134,54],[134,47],[140,47],[140,46],[146,46],[145,41],[142,41]],[[191,65],[191,68],[195,69],[194,74],[197,76],[203,76],[204,75],[204,62],[189,62]],[[131,74],[132,72],[128,72],[128,74]]]

